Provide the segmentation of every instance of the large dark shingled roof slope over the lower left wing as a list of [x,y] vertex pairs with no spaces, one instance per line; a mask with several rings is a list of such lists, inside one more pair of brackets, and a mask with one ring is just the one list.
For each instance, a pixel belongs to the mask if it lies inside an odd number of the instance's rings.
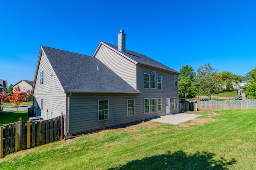
[[95,57],[42,49],[65,92],[140,93]]

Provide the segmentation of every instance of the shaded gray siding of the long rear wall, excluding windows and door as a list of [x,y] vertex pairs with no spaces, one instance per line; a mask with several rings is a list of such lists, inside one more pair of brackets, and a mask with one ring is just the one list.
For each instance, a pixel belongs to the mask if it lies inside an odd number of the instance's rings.
[[[112,125],[120,125],[166,115],[165,98],[178,98],[178,86],[174,86],[174,74],[160,69],[137,65],[137,87],[141,94],[72,94],[70,97],[70,134]],[[162,90],[144,89],[144,73],[154,70],[162,76]],[[156,112],[144,114],[144,98],[156,98]],[[157,98],[162,98],[162,111],[157,111]],[[127,99],[134,99],[134,116],[127,116]],[[108,100],[108,120],[98,121],[98,100]],[[170,113],[178,113],[171,109]]]

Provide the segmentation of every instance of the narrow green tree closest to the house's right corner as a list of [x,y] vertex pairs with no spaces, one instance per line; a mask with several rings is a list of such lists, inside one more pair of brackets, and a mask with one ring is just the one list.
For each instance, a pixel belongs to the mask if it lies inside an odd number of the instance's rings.
[[186,64],[180,68],[180,76],[179,76],[179,98],[183,100],[188,96],[193,96],[194,93],[192,92],[193,89],[193,78],[196,76],[194,69],[192,66]]

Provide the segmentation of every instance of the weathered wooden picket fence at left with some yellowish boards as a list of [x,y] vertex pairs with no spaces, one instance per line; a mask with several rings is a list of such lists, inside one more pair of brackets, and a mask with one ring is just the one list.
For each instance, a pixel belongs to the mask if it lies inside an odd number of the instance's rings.
[[64,115],[49,120],[20,121],[0,127],[0,158],[64,139]]

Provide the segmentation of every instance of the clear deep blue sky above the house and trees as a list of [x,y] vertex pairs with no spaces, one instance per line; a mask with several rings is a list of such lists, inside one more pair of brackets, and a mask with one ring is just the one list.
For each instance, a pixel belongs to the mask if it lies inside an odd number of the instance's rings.
[[211,63],[243,75],[256,66],[255,0],[24,0],[0,2],[0,79],[34,80],[40,45],[90,55],[100,41],[177,71]]

